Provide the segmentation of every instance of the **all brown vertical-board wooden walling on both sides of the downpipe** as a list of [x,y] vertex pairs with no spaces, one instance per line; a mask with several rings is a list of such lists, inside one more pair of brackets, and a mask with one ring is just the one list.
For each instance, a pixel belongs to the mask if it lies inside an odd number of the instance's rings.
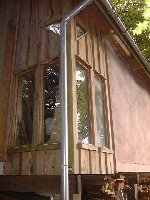
[[[2,48],[0,49],[0,89],[4,92],[4,99],[0,104],[6,103],[1,110],[1,144],[5,146],[4,173],[13,175],[25,174],[59,174],[60,173],[60,145],[54,147],[37,147],[35,144],[31,148],[15,148],[9,146],[12,133],[13,112],[15,101],[15,75],[35,68],[41,70],[41,65],[50,62],[59,57],[59,39],[53,37],[52,33],[45,30],[45,26],[60,20],[68,12],[70,1],[64,0],[8,0],[1,1],[0,17],[3,26],[1,27],[0,39]],[[101,23],[99,20],[101,19]],[[93,8],[86,9],[78,16],[79,22],[88,30],[85,37],[79,40],[75,38],[75,21],[71,22],[68,38],[70,43],[69,69],[70,88],[69,88],[69,116],[71,125],[69,125],[69,167],[71,173],[98,174],[114,172],[114,152],[112,146],[112,133],[110,126],[110,105],[108,81],[105,81],[106,87],[106,115],[108,148],[100,148],[97,144],[96,135],[92,145],[78,144],[76,127],[76,104],[75,104],[75,67],[76,59],[92,68],[91,83],[94,73],[107,80],[107,61],[105,55],[104,34],[108,31],[108,25],[98,11]],[[93,23],[94,22],[94,23]],[[101,28],[102,26],[103,28]],[[70,47],[69,47],[70,46]],[[8,56],[9,55],[9,56]],[[9,58],[9,59],[8,59]],[[1,72],[0,71],[0,72]],[[1,73],[0,73],[1,74]],[[5,75],[5,81],[2,77]],[[94,87],[91,84],[91,87]],[[40,89],[39,89],[40,91]],[[40,94],[38,94],[40,95]],[[10,99],[10,101],[9,101]],[[94,102],[94,98],[92,98]],[[10,103],[11,102],[11,103]],[[94,103],[93,103],[94,105]],[[0,106],[1,108],[2,106]],[[75,111],[75,112],[74,112]],[[6,113],[4,116],[3,113]],[[40,121],[40,112],[36,113]],[[93,117],[95,113],[93,112]],[[7,118],[7,120],[6,120]],[[39,122],[38,121],[38,122]],[[7,122],[7,123],[6,123]],[[37,130],[38,131],[38,130]],[[5,138],[4,142],[4,135]],[[1,145],[0,145],[1,146]],[[4,148],[2,149],[4,151]],[[2,151],[1,151],[2,152]]]

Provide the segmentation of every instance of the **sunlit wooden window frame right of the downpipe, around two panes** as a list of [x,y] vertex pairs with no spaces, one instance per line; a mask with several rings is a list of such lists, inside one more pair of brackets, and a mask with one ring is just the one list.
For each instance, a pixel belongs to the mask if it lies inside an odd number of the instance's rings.
[[[76,56],[76,64],[81,65],[85,70],[87,70],[87,92],[88,92],[88,121],[89,121],[89,143],[85,145],[94,145],[99,148],[110,148],[109,141],[109,131],[108,131],[108,111],[107,111],[107,95],[106,95],[106,81],[108,81],[102,74],[98,73],[93,69],[88,63],[82,60],[80,57]],[[96,105],[95,105],[95,84],[94,78],[98,78],[102,81],[102,91],[103,91],[103,105],[104,105],[104,129],[105,129],[105,146],[100,146],[97,140],[97,122],[96,122]],[[78,125],[77,125],[78,126]],[[78,129],[77,129],[78,130]],[[82,143],[78,140],[78,143]],[[84,144],[84,143],[82,143]]]

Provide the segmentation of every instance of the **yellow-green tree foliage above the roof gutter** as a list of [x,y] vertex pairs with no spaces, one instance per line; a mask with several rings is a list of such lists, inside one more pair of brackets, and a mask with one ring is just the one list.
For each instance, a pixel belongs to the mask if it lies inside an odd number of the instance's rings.
[[150,0],[110,0],[133,40],[150,61]]

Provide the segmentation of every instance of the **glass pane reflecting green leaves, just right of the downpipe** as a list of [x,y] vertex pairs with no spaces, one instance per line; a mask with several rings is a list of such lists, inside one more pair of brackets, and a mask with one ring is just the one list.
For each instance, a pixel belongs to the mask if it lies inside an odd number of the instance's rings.
[[80,65],[76,69],[76,88],[77,88],[77,120],[79,141],[89,142],[88,128],[88,93],[86,70]]

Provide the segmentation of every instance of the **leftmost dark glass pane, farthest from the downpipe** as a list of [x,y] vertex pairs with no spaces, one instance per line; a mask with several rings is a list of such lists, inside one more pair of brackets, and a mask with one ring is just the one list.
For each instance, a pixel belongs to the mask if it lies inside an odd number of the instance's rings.
[[18,78],[17,145],[32,143],[35,76],[34,72]]

